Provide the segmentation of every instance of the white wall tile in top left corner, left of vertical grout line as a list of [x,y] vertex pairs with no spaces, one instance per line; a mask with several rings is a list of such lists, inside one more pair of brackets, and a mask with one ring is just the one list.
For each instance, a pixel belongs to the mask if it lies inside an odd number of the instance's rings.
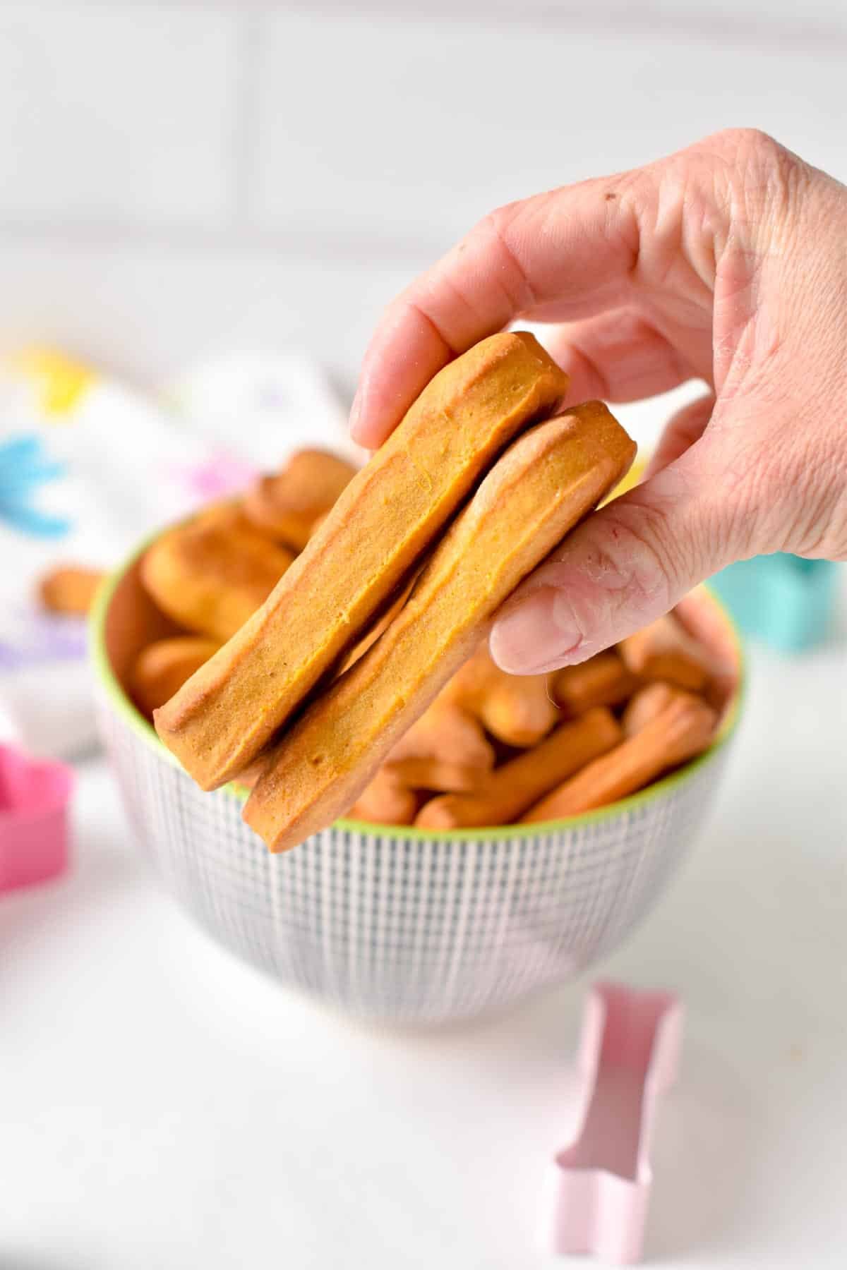
[[223,225],[240,20],[168,6],[0,9],[0,213]]

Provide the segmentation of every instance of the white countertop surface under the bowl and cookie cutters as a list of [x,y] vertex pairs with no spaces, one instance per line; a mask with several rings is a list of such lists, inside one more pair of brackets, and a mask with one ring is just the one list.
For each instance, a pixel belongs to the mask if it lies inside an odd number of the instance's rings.
[[[757,654],[719,805],[602,973],[687,1007],[648,1260],[842,1267],[847,648]],[[76,861],[0,898],[0,1266],[517,1270],[577,1110],[583,986],[378,1034],[234,960],[157,889],[103,761]]]

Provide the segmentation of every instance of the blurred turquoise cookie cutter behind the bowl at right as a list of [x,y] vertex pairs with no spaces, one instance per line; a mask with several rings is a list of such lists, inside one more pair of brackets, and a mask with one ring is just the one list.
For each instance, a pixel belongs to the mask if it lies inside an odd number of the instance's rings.
[[825,639],[838,577],[830,560],[777,554],[739,560],[710,585],[745,634],[781,653],[803,653]]

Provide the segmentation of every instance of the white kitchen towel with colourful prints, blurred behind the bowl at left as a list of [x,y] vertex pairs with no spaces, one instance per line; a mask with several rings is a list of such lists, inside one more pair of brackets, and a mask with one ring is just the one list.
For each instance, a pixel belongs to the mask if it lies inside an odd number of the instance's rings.
[[41,610],[39,577],[113,569],[303,444],[361,455],[297,353],[220,357],[155,394],[53,349],[0,358],[0,738],[62,758],[97,743],[85,624]]

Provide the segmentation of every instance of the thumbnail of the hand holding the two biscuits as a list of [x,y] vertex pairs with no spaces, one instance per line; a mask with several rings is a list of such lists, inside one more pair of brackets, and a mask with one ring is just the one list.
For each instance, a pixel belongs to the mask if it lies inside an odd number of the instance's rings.
[[583,641],[564,593],[538,587],[504,613],[491,631],[491,655],[510,674],[541,674],[556,669]]

